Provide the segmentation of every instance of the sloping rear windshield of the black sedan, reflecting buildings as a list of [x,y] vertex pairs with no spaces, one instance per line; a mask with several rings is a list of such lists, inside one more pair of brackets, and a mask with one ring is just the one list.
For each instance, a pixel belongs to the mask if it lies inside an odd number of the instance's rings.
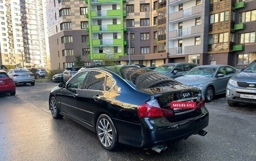
[[113,70],[130,84],[138,89],[156,88],[161,86],[178,85],[179,82],[173,80],[162,73],[138,67],[118,67],[120,70]]

